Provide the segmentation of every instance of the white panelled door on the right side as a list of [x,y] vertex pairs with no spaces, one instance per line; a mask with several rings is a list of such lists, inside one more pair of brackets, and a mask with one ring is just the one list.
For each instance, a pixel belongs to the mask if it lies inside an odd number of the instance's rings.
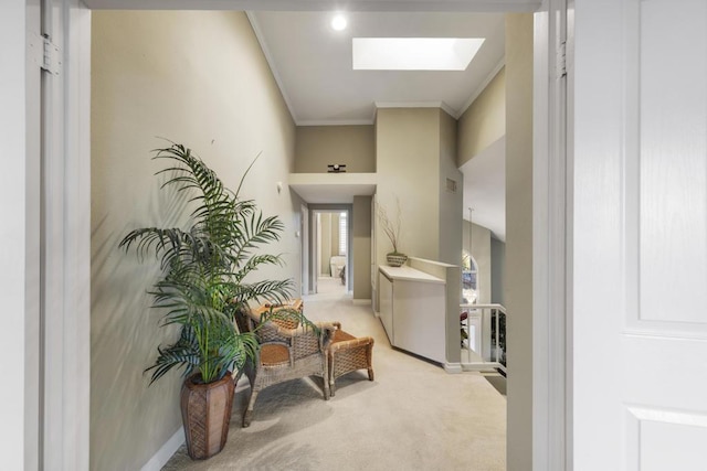
[[706,470],[707,2],[574,6],[573,469]]

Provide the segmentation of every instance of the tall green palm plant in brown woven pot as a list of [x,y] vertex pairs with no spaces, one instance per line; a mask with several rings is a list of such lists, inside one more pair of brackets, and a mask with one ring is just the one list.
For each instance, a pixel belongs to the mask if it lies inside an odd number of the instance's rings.
[[[173,367],[182,368],[181,411],[187,448],[192,459],[209,458],[228,438],[234,381],[232,374],[253,358],[257,341],[241,332],[235,315],[251,301],[283,302],[292,280],[245,281],[263,265],[282,265],[277,255],[255,253],[258,246],[279,239],[284,226],[276,217],[263,217],[252,200],[226,189],[207,164],[181,144],[158,149],[154,159],[170,164],[162,185],[191,193],[193,212],[189,227],[144,227],[120,242],[135,247],[138,259],[154,254],[162,269],[151,295],[163,308],[163,325],[178,324],[179,338],[158,346],[150,384]],[[215,438],[214,438],[215,437]]]

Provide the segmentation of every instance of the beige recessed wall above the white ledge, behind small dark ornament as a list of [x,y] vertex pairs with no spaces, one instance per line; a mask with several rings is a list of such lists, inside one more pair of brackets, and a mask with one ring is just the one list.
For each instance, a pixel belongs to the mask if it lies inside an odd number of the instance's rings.
[[376,172],[373,126],[298,126],[296,173],[326,173],[327,164],[345,163],[346,171]]

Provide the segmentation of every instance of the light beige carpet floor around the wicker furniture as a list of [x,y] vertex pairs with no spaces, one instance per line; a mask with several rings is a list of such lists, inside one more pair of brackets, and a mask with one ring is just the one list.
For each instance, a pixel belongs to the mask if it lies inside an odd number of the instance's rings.
[[321,280],[319,288],[305,297],[305,314],[372,336],[376,381],[366,371],[342,376],[328,402],[318,378],[271,386],[258,395],[244,429],[250,389],[242,378],[223,451],[192,461],[182,447],[163,470],[506,469],[504,396],[478,373],[451,375],[391,349],[369,306],[355,306],[340,289],[323,289]]

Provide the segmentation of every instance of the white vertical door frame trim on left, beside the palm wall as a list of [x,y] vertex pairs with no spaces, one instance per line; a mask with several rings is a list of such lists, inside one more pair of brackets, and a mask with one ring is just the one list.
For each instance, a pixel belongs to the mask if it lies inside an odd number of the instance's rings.
[[[62,73],[45,74],[43,467],[89,467],[91,12],[52,0]],[[51,235],[51,236],[50,236]],[[42,464],[40,464],[42,467]]]

